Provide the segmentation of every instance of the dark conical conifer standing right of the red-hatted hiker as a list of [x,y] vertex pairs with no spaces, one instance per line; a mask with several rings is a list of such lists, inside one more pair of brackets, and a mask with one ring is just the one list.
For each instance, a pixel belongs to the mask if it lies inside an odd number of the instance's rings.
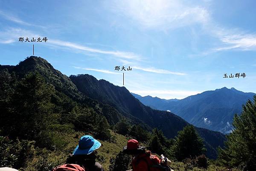
[[198,135],[193,125],[187,125],[178,132],[172,150],[178,161],[199,156],[206,151],[203,139]]

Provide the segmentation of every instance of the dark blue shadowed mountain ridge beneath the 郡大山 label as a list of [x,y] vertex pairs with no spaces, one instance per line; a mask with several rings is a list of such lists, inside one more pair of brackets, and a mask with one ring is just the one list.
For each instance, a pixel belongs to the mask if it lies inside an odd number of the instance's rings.
[[[143,105],[125,87],[115,86],[105,80],[97,80],[87,74],[71,75],[70,79],[79,91],[90,98],[97,99],[102,103],[107,103],[117,108],[125,116],[130,114],[135,118],[139,118],[149,125],[150,128],[163,130],[163,133],[169,138],[175,137],[177,132],[188,124],[171,112],[153,110]],[[203,128],[197,128],[197,131],[205,139],[208,156],[214,158],[216,155],[215,148],[223,145],[224,135]]]

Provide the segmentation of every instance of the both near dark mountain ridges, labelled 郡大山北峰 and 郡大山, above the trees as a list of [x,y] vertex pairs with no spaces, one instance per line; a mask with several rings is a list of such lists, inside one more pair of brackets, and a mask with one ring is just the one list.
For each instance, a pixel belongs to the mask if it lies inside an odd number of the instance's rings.
[[[55,90],[66,94],[79,103],[92,107],[104,115],[113,125],[123,117],[131,123],[143,123],[147,128],[159,128],[163,133],[173,138],[179,130],[189,123],[179,116],[160,110],[151,109],[136,99],[125,87],[115,86],[105,80],[97,80],[91,75],[71,75],[67,77],[55,70],[43,58],[30,57],[17,66],[0,66],[15,71],[17,75],[28,72],[39,72]],[[225,136],[219,132],[196,128],[205,140],[207,156],[216,158],[216,148],[223,146]]]

